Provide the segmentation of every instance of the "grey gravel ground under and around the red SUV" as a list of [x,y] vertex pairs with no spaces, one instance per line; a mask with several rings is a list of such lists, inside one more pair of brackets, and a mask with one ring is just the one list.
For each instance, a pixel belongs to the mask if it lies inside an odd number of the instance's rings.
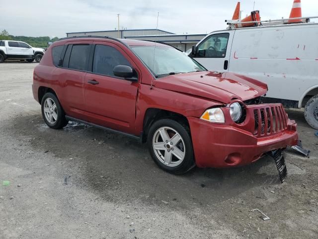
[[35,66],[0,64],[0,239],[318,238],[318,137],[301,111],[288,114],[312,153],[286,151],[285,183],[269,157],[174,176],[133,139],[75,122],[48,128]]

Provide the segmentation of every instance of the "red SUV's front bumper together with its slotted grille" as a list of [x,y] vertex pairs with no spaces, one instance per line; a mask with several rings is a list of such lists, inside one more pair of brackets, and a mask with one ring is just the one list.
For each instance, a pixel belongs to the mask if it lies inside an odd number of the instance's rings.
[[[226,111],[226,122],[231,122]],[[243,166],[267,152],[298,143],[297,124],[290,120],[281,104],[246,106],[242,124],[210,123],[188,117],[198,167]]]

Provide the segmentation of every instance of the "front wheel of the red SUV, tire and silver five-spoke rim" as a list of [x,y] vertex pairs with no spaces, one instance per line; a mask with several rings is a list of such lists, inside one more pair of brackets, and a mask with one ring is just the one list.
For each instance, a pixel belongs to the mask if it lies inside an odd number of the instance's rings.
[[195,166],[189,127],[172,119],[159,119],[147,139],[153,160],[163,170],[182,174]]

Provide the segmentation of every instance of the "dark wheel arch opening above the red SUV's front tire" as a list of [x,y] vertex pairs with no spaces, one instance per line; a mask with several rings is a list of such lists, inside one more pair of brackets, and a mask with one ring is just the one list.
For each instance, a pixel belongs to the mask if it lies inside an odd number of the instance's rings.
[[167,111],[159,108],[148,108],[145,112],[144,121],[143,121],[143,134],[142,134],[142,142],[145,143],[147,141],[147,136],[151,125],[159,120],[159,119],[177,119],[181,120],[189,127],[188,119],[176,112]]

